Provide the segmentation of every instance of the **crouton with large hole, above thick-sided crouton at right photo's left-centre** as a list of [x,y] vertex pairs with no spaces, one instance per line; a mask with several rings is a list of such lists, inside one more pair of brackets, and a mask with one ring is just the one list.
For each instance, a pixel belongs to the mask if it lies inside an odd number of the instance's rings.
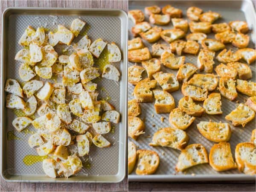
[[179,89],[180,85],[172,73],[163,73],[162,71],[154,73],[153,77],[164,91],[174,92]]

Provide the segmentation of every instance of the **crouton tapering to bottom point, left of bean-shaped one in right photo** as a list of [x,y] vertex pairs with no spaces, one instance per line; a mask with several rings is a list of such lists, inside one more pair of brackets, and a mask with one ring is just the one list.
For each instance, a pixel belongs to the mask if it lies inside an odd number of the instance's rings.
[[161,70],[160,61],[157,58],[151,58],[148,61],[142,61],[142,66],[148,74],[148,78],[152,79],[152,75]]

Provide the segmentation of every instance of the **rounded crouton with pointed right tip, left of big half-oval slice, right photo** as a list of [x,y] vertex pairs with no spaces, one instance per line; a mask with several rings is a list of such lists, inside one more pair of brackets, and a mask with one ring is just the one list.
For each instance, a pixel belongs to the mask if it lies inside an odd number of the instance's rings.
[[169,123],[172,125],[172,127],[181,130],[186,130],[186,128],[188,128],[194,120],[194,116],[184,113],[179,108],[173,109],[169,115]]

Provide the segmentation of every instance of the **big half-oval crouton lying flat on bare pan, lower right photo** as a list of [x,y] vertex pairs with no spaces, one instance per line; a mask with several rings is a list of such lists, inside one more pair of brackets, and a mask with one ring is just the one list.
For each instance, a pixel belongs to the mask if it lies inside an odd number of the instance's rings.
[[230,125],[227,123],[201,121],[196,126],[207,140],[216,143],[229,141],[232,134]]

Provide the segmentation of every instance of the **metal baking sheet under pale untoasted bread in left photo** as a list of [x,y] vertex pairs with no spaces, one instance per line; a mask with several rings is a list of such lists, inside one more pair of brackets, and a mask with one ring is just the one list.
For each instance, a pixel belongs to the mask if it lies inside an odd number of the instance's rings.
[[[50,31],[56,31],[58,24],[70,28],[75,18],[87,22],[81,34],[86,34],[92,41],[97,38],[111,43],[115,42],[122,51],[122,61],[114,63],[121,75],[115,83],[102,80],[98,84],[99,98],[108,97],[116,110],[121,113],[121,122],[114,125],[115,131],[106,134],[111,142],[109,148],[90,147],[90,169],[81,170],[68,179],[64,177],[51,179],[44,174],[42,163],[26,166],[23,159],[26,155],[37,155],[35,149],[28,145],[29,133],[17,131],[12,126],[15,118],[13,110],[5,108],[6,93],[3,87],[7,78],[20,80],[19,63],[14,60],[15,54],[22,49],[19,38],[28,25],[35,29],[44,26]],[[127,143],[127,14],[117,9],[48,9],[48,8],[9,8],[3,13],[2,27],[2,85],[1,85],[1,174],[7,181],[27,182],[120,182],[126,173],[126,143]],[[78,39],[81,38],[78,37]],[[74,39],[74,41],[78,41]],[[30,131],[34,128],[29,127]],[[15,140],[8,140],[8,134],[15,134]]]

